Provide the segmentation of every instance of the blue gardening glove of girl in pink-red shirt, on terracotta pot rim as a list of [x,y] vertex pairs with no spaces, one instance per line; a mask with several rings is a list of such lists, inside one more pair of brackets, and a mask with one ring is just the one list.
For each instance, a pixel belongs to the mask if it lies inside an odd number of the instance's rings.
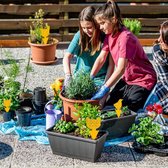
[[108,92],[110,91],[110,88],[106,85],[103,85],[98,92],[91,98],[91,100],[97,100],[103,98]]

